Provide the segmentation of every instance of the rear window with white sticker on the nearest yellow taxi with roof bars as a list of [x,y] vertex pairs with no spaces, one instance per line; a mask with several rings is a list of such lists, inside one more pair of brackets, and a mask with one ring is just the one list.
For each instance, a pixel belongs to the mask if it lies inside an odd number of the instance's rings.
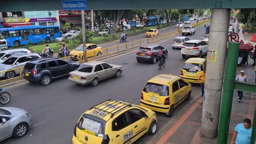
[[[88,131],[89,134],[95,133],[95,135],[102,134],[102,124],[93,119],[82,117],[80,118],[78,125],[85,131]],[[93,133],[90,133],[93,132]]]

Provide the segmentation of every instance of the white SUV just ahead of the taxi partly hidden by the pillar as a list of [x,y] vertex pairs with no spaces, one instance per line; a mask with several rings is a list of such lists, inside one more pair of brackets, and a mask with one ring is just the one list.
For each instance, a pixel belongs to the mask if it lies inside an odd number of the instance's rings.
[[208,45],[203,40],[188,40],[183,43],[182,46],[182,57],[185,58],[187,56],[198,56],[202,57],[202,55],[207,54]]

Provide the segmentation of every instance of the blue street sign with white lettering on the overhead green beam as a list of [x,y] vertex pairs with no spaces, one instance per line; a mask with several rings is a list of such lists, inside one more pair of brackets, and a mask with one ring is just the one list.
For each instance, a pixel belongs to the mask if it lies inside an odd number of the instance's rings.
[[87,10],[86,0],[61,1],[64,10]]

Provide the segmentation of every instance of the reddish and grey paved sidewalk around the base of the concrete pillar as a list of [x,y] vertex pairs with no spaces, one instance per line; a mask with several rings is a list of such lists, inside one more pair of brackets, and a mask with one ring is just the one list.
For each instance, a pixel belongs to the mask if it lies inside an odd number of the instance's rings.
[[[245,70],[247,82],[254,83],[255,71],[254,67],[251,66],[253,60],[249,58],[248,63],[246,66],[237,68],[237,75],[240,74],[241,70]],[[230,143],[232,131],[238,123],[242,123],[245,118],[250,118],[253,121],[256,93],[244,92],[241,103],[238,103],[237,97],[237,91],[235,90],[232,101],[228,143]],[[179,116],[174,122],[168,124],[164,130],[160,131],[150,143],[218,143],[217,138],[207,139],[201,136],[202,103],[202,98],[198,99],[182,116]]]

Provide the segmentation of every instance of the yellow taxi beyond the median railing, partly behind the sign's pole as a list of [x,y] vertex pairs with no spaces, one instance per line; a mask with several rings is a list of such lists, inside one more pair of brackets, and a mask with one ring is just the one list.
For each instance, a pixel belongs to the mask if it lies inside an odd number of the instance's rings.
[[[96,44],[86,44],[86,57],[100,56],[102,54],[102,47]],[[79,61],[84,56],[83,45],[79,45],[70,53],[71,60]]]

